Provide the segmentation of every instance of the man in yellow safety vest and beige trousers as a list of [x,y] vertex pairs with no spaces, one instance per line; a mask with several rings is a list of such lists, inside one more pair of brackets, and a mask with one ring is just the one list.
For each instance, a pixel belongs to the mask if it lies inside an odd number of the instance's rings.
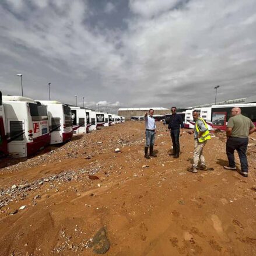
[[[208,130],[208,125],[205,120],[199,117],[200,113],[198,110],[193,111],[193,118],[195,121],[195,129],[194,131],[189,132],[189,134],[195,134],[195,149],[194,149],[194,157],[193,164],[191,167],[188,167],[187,170],[192,173],[197,173],[197,169],[206,170],[205,157],[203,155],[203,149],[208,141],[211,139],[211,135]],[[200,166],[198,167],[198,163],[200,160]]]

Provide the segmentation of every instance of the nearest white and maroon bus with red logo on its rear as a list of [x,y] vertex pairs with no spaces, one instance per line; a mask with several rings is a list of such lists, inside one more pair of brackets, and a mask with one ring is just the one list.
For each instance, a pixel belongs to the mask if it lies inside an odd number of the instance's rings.
[[31,156],[50,143],[46,106],[21,96],[2,96],[2,100],[10,156]]

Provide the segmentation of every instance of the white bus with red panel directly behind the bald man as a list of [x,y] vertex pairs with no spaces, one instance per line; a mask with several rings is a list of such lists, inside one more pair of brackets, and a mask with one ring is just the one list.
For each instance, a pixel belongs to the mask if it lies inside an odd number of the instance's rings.
[[215,129],[226,130],[227,121],[231,115],[233,107],[240,107],[241,114],[251,119],[256,125],[256,103],[238,103],[226,105],[213,105],[211,113],[212,127]]

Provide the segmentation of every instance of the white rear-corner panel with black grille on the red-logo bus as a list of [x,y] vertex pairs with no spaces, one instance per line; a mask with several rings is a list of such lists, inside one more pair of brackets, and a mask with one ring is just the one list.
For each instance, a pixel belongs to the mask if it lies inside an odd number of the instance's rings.
[[23,119],[7,120],[8,152],[13,157],[27,156],[25,125]]

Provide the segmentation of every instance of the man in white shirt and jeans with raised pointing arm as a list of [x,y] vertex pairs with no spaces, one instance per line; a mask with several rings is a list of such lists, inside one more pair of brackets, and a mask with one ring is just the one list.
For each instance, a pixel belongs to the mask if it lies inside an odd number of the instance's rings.
[[[150,156],[156,157],[153,153],[153,147],[155,142],[155,134],[156,134],[156,122],[155,118],[153,118],[154,110],[150,108],[149,115],[146,112],[145,117],[145,128],[146,128],[146,143],[145,143],[145,156],[146,159],[150,159]],[[148,149],[149,155],[148,155]]]

